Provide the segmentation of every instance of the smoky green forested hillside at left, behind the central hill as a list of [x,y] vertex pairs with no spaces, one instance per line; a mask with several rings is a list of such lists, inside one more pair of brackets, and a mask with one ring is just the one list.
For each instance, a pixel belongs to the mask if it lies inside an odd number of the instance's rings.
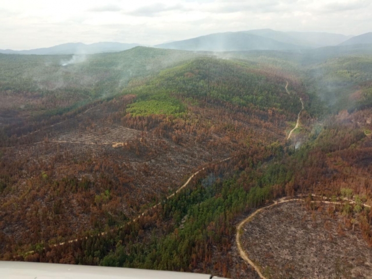
[[0,126],[31,116],[60,115],[120,93],[133,78],[196,56],[145,47],[84,56],[0,54]]

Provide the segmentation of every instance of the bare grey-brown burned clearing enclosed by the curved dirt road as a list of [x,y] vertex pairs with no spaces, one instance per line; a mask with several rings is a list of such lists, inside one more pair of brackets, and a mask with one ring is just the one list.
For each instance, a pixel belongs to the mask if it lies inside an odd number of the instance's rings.
[[266,278],[372,278],[372,248],[358,226],[318,206],[293,201],[259,212],[241,236],[249,258]]

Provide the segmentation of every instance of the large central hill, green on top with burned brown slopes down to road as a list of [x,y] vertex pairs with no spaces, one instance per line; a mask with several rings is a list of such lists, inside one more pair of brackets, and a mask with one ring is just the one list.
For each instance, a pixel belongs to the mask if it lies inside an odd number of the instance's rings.
[[31,133],[7,127],[2,254],[125,224],[201,166],[285,140],[301,108],[286,78],[250,63],[196,58],[53,122],[24,120]]

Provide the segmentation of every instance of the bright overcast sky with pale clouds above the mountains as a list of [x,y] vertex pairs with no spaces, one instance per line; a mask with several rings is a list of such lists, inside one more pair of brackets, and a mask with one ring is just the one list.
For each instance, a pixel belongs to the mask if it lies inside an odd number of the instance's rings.
[[0,0],[0,49],[98,41],[156,45],[262,28],[359,35],[372,31],[372,1]]

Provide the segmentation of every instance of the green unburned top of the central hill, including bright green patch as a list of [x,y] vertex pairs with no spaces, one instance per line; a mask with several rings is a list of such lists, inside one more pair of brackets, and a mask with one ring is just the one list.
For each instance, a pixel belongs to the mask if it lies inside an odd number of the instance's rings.
[[285,76],[258,70],[252,63],[217,58],[197,58],[164,70],[149,82],[124,91],[137,101],[127,109],[132,115],[185,112],[199,101],[273,110],[295,115],[298,96],[285,93]]

